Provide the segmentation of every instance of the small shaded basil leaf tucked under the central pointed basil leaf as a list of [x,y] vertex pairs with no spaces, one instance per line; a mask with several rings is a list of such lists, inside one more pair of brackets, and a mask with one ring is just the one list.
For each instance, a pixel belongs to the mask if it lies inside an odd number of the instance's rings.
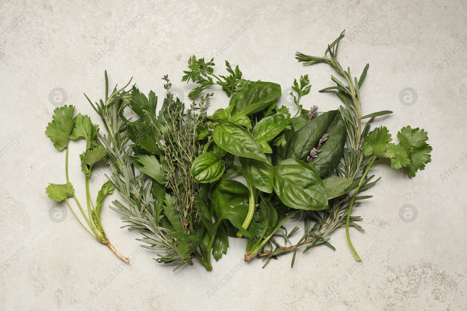
[[240,157],[243,177],[256,189],[262,192],[272,193],[274,171],[269,161]]

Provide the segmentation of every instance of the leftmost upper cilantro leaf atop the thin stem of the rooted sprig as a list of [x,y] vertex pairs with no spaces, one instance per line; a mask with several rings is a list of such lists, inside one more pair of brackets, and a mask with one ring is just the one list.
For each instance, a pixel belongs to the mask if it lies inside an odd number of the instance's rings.
[[73,130],[75,121],[73,120],[74,106],[64,105],[57,107],[52,116],[52,122],[49,122],[45,135],[49,136],[57,150],[62,151],[68,147],[70,134]]

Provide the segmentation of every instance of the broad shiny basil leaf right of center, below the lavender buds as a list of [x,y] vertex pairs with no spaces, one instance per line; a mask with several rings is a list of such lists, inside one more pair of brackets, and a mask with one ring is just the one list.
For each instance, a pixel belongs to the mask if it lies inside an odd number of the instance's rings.
[[282,202],[293,208],[328,208],[327,194],[318,173],[298,159],[285,159],[274,166],[274,190]]

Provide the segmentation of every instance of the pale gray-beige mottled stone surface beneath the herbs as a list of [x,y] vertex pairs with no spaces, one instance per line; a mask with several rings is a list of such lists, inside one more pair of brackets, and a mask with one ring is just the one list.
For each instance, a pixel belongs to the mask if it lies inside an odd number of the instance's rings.
[[[6,149],[0,159],[0,309],[465,310],[465,1],[339,2],[1,1],[0,148]],[[65,102],[99,123],[83,92],[93,101],[104,96],[105,69],[111,84],[133,76],[141,90],[158,95],[168,73],[187,100],[193,84],[180,82],[186,60],[214,56],[218,72],[227,59],[240,64],[245,77],[280,83],[279,104],[291,108],[289,86],[309,74],[311,94],[303,104],[326,111],[340,102],[317,90],[332,85],[334,73],[324,64],[302,66],[294,52],[322,55],[343,29],[341,64],[354,75],[370,64],[361,90],[364,113],[392,110],[374,124],[384,123],[393,135],[407,124],[424,128],[433,146],[432,162],[413,179],[384,164],[373,170],[382,176],[374,197],[354,210],[366,232],[351,231],[360,254],[371,253],[363,265],[354,261],[341,228],[332,235],[335,251],[298,253],[293,269],[291,256],[283,256],[265,269],[255,260],[233,273],[246,242],[230,239],[227,256],[211,272],[195,263],[174,273],[152,259],[155,252],[141,251],[134,240],[140,235],[120,229],[119,214],[105,208],[109,239],[134,257],[133,265],[120,268],[71,213],[54,218],[64,205],[44,189],[64,182],[64,153],[52,146],[45,127]],[[210,111],[228,101],[216,93]],[[77,192],[84,188],[78,165],[83,147],[70,147]],[[94,194],[106,179],[97,174]],[[416,208],[415,221],[415,213],[404,218],[406,204]]]

